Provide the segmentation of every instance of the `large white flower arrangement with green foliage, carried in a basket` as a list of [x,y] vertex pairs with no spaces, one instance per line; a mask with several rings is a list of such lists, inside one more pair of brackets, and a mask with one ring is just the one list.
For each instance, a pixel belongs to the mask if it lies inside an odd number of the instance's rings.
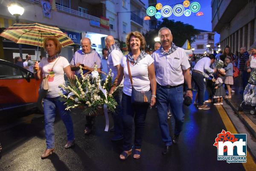
[[[80,66],[81,77],[76,75],[74,78],[69,79],[69,85],[61,85],[61,87],[68,92],[68,95],[61,94],[62,97],[67,99],[65,105],[66,110],[71,108],[81,108],[87,116],[98,116],[103,114],[103,105],[106,104],[108,111],[114,111],[116,108],[116,101],[109,90],[112,87],[111,70],[109,71],[105,81],[100,80],[97,66],[94,71],[83,75]],[[117,87],[116,87],[117,89]],[[115,90],[116,90],[115,89]]]

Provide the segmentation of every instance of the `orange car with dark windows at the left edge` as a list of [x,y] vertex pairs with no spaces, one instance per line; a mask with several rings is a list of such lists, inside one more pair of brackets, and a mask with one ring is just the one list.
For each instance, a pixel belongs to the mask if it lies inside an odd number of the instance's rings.
[[41,80],[29,70],[0,59],[0,114],[17,113],[35,107],[42,112],[38,99]]

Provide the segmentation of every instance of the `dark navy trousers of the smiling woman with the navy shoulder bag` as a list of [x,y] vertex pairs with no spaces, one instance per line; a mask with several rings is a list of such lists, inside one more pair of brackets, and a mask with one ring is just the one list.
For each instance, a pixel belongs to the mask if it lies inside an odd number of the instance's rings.
[[141,148],[148,105],[132,105],[131,96],[122,93],[123,150],[131,150],[132,128],[135,123],[134,147]]

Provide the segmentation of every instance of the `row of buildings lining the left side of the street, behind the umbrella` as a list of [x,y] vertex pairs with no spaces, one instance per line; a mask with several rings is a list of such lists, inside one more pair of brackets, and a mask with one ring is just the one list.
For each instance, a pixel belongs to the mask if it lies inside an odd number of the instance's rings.
[[[44,0],[49,2],[49,0]],[[8,11],[11,0],[0,3],[0,28],[7,28],[15,23],[15,17]],[[71,61],[74,52],[81,48],[81,38],[90,38],[92,48],[101,55],[105,47],[104,38],[113,35],[116,40],[124,41],[126,34],[130,31],[146,32],[148,22],[143,20],[148,6],[141,0],[55,0],[56,9],[50,11],[50,17],[43,13],[43,0],[18,0],[24,7],[20,23],[41,23],[56,26],[65,32],[75,45],[62,48],[61,55]],[[100,25],[101,17],[109,19],[109,29]],[[3,56],[0,58],[13,61],[17,55],[18,45],[9,40],[2,39]],[[0,43],[1,44],[1,43]],[[36,46],[22,45],[23,59],[26,54],[35,55]],[[42,53],[43,50],[42,50]],[[0,53],[2,54],[2,53]],[[35,60],[35,58],[32,58]]]

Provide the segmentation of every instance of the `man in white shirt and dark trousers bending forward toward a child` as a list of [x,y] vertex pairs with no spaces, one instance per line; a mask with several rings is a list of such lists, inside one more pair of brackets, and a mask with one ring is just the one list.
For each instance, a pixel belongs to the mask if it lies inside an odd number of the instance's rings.
[[212,73],[216,72],[216,69],[211,69],[210,65],[215,61],[215,56],[210,55],[209,57],[201,58],[194,66],[192,71],[192,80],[198,87],[198,109],[208,110],[210,109],[207,105],[204,104],[204,75],[206,72]]

